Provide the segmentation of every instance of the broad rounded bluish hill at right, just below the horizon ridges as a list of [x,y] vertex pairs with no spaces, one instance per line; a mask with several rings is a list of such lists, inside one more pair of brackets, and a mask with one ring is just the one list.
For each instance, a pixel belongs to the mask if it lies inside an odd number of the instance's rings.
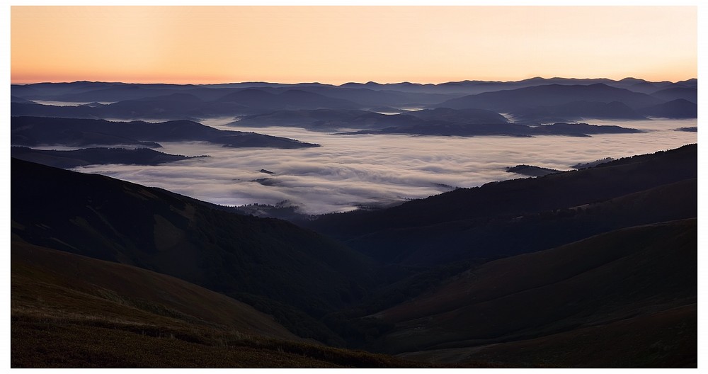
[[588,86],[550,84],[463,96],[444,101],[436,106],[453,109],[479,108],[499,113],[515,113],[526,108],[558,106],[577,101],[595,103],[619,101],[629,108],[636,109],[661,103],[662,100],[647,94],[607,86],[607,84],[590,84]]

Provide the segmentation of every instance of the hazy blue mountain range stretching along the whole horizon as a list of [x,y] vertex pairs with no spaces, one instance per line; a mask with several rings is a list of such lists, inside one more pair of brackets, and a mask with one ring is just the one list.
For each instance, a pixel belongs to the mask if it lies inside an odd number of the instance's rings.
[[[696,118],[697,79],[532,78],[442,84],[177,85],[77,81],[11,86],[11,114],[62,118],[195,120],[267,115],[274,111],[488,110],[536,125],[584,118]],[[673,101],[677,101],[673,103]],[[44,103],[67,103],[64,106]],[[668,105],[668,108],[665,106]],[[490,118],[491,123],[496,120]],[[312,122],[315,122],[313,120]],[[357,128],[371,130],[370,128]]]

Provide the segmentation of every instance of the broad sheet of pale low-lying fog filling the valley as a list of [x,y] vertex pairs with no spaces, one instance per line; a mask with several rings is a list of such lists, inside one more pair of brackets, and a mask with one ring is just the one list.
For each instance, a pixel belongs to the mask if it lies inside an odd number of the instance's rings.
[[[100,173],[221,205],[287,201],[302,212],[352,210],[425,198],[454,187],[523,178],[507,166],[530,164],[570,170],[578,162],[619,158],[697,142],[697,120],[588,120],[651,130],[593,137],[411,137],[331,135],[299,128],[229,128],[229,120],[205,120],[216,128],[292,137],[322,147],[307,149],[224,148],[205,143],[162,143],[161,152],[211,157],[163,166],[96,165],[76,170]],[[265,171],[273,172],[268,174]]]

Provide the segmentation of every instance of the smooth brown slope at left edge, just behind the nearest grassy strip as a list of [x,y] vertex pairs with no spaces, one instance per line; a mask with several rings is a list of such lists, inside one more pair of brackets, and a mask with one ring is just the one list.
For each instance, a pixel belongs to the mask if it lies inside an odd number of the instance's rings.
[[[302,339],[267,314],[220,293],[135,266],[91,259],[13,241],[12,309],[32,314],[41,307],[74,305],[81,313],[105,319],[131,318],[136,323],[195,324],[279,339]],[[50,296],[51,290],[55,294]],[[37,305],[36,297],[50,297]],[[69,300],[62,300],[65,297]],[[64,305],[54,305],[54,304]],[[156,315],[150,315],[156,314]],[[151,321],[152,319],[152,321]],[[160,320],[161,319],[161,320]]]

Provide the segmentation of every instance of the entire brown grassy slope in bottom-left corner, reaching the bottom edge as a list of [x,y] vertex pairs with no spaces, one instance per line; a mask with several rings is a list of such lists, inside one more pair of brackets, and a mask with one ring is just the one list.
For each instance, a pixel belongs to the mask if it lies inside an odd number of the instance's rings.
[[429,367],[311,344],[171,276],[14,240],[13,368]]

